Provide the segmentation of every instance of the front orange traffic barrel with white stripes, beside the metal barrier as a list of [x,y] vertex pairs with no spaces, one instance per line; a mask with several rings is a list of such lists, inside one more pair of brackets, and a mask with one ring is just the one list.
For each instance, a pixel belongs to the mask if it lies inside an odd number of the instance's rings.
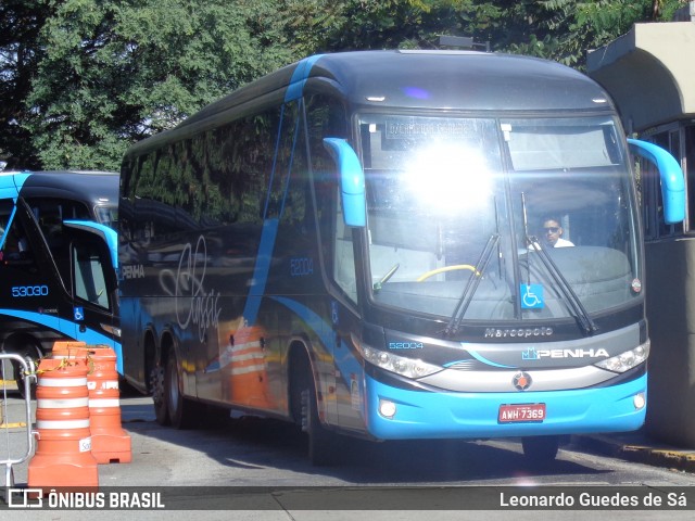
[[36,452],[29,461],[29,488],[99,485],[91,454],[86,361],[43,358],[36,387]]

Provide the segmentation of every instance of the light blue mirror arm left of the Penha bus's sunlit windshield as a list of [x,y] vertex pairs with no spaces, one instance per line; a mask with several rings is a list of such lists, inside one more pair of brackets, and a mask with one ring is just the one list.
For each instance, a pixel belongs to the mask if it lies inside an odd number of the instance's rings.
[[324,147],[338,167],[345,226],[366,226],[365,173],[357,154],[344,139],[325,138]]

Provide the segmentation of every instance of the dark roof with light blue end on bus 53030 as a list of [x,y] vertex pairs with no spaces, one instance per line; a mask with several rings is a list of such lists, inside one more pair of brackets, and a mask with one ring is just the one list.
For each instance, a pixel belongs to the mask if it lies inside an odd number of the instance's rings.
[[[61,196],[98,204],[118,203],[118,173],[100,170],[3,171],[0,187],[30,189],[31,196]],[[20,185],[16,186],[15,181]]]

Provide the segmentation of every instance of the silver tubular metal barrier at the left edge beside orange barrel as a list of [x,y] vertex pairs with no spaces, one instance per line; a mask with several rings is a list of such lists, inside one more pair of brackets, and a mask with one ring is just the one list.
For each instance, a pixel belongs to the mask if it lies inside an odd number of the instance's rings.
[[[13,369],[15,371],[23,370],[24,373],[27,374],[27,378],[24,378],[22,381],[24,384],[24,398],[21,396],[17,396],[16,398],[12,397],[10,403],[5,380],[5,374],[8,374],[9,371],[5,370],[5,363],[13,361],[17,364]],[[10,488],[14,487],[14,472],[12,470],[12,466],[24,462],[34,452],[34,432],[31,430],[31,384],[35,383],[35,381],[36,367],[33,361],[26,360],[20,355],[0,353],[0,439],[2,439],[0,443],[4,446],[4,449],[7,450],[5,454],[8,456],[7,459],[0,459],[0,463],[5,467],[5,504],[10,500]],[[22,409],[24,414],[22,414]],[[23,436],[23,430],[26,431],[25,439]],[[23,450],[22,445],[26,446],[26,450]],[[3,447],[0,446],[0,458],[3,457],[1,450],[3,450]],[[13,452],[18,454],[13,454]]]

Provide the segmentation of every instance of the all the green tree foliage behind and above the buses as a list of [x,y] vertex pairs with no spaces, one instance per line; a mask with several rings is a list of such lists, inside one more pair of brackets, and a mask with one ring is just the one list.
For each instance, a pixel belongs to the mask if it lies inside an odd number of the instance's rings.
[[582,68],[585,51],[683,0],[3,0],[0,158],[117,169],[132,142],[315,52],[492,50]]

